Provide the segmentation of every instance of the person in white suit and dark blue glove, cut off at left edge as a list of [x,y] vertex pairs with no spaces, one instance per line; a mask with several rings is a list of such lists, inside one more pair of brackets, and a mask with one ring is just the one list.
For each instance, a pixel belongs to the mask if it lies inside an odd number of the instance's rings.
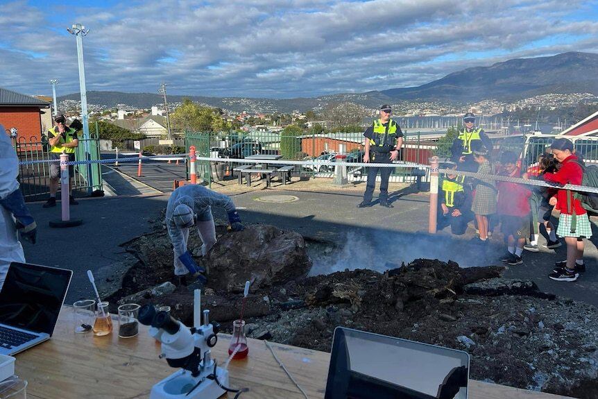
[[35,244],[37,225],[19,190],[19,159],[10,137],[0,125],[0,288],[10,262],[25,262],[22,239]]

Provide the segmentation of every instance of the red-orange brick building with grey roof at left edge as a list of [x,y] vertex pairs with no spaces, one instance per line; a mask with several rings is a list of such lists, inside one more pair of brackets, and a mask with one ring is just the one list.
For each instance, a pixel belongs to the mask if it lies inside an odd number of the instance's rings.
[[0,124],[7,130],[17,128],[17,137],[40,141],[42,112],[50,112],[49,102],[0,87]]

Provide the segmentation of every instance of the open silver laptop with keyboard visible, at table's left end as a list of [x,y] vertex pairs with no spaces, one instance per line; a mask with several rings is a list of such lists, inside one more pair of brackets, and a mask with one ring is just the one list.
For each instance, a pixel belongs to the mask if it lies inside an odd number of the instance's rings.
[[0,291],[0,353],[14,355],[50,339],[73,271],[12,262]]

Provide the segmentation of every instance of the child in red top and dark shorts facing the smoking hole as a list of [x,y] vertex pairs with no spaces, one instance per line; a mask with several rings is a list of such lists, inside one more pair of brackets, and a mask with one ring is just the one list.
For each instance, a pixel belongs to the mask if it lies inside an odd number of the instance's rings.
[[[519,178],[521,167],[518,156],[512,151],[502,153],[500,157],[502,176]],[[524,185],[498,181],[497,214],[500,215],[501,231],[507,241],[507,253],[501,260],[510,265],[522,264],[522,253],[525,239],[529,237],[529,197],[531,191]]]

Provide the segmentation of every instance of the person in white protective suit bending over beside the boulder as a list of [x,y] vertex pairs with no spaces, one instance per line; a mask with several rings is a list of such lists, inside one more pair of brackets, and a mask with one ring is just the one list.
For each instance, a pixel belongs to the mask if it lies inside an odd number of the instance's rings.
[[187,240],[189,228],[196,224],[198,235],[203,243],[201,255],[205,256],[207,251],[216,244],[213,206],[224,208],[228,214],[231,230],[244,229],[234,203],[224,194],[213,192],[202,185],[185,185],[174,190],[169,198],[166,206],[166,228],[173,245],[174,274],[182,278],[183,284],[186,282],[185,276],[189,273],[197,275],[199,280],[205,282],[203,275],[198,274],[205,270],[194,262],[187,251]]

